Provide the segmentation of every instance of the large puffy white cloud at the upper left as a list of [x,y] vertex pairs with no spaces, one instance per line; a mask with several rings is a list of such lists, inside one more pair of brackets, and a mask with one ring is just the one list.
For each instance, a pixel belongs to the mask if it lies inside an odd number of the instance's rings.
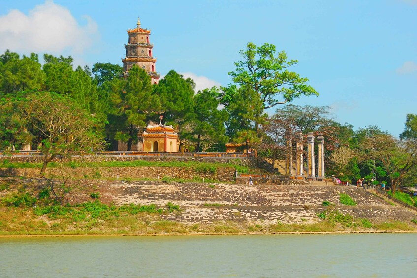
[[67,8],[49,0],[28,15],[10,10],[0,16],[0,51],[82,55],[98,38],[96,22],[84,19],[87,23],[81,26]]

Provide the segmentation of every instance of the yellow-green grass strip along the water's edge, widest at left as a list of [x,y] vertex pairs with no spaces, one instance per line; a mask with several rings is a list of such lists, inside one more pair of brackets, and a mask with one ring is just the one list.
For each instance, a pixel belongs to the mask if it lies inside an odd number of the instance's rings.
[[166,234],[239,234],[239,233],[317,233],[416,231],[413,223],[387,221],[372,223],[354,219],[337,211],[314,223],[273,225],[262,223],[214,222],[183,224],[160,216],[179,213],[181,208],[167,203],[156,205],[106,205],[100,201],[77,206],[47,205],[0,208],[0,235],[166,235]]

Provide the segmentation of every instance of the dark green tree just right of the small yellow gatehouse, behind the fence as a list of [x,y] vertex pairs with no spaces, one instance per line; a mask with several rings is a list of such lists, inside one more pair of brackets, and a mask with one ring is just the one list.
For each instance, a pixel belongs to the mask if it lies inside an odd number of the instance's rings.
[[196,142],[196,152],[205,151],[201,143],[209,147],[227,142],[225,121],[228,113],[224,109],[218,110],[219,101],[213,96],[213,90],[216,88],[204,89],[194,96],[194,117],[188,136]]

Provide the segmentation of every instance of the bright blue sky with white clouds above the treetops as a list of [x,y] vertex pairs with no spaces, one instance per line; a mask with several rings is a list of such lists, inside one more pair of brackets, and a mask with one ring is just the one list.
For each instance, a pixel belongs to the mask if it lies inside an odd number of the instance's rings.
[[0,0],[0,51],[122,64],[137,17],[162,75],[226,86],[239,50],[271,43],[320,93],[294,104],[328,105],[341,123],[395,136],[417,114],[417,0]]

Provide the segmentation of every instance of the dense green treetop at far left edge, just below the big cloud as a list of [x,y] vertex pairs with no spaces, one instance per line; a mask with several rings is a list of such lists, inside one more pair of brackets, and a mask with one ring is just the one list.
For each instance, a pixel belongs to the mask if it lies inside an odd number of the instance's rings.
[[0,92],[40,89],[43,82],[44,73],[37,54],[20,59],[19,54],[7,50],[0,56]]

